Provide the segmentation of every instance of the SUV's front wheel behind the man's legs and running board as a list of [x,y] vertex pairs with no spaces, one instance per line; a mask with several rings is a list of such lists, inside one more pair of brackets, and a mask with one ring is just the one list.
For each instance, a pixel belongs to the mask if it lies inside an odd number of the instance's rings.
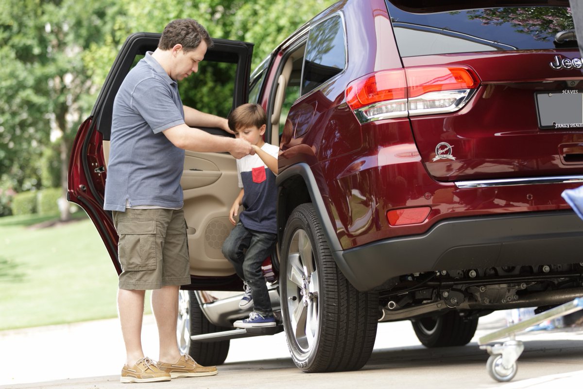
[[178,297],[178,323],[176,335],[182,354],[190,355],[203,366],[222,365],[229,353],[230,341],[192,342],[191,335],[228,331],[232,328],[217,327],[202,313],[194,291],[180,290]]

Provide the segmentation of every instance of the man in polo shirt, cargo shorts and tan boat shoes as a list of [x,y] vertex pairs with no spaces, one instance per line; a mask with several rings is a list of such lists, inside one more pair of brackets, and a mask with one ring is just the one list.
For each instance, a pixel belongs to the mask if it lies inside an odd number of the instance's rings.
[[[184,149],[229,152],[236,158],[253,153],[243,139],[191,128],[231,132],[226,119],[182,106],[177,82],[198,71],[210,46],[212,40],[201,24],[173,20],[164,28],[157,49],[128,73],[115,97],[103,208],[113,211],[120,237],[118,312],[127,352],[123,383],[217,373],[214,366],[203,367],[181,356],[175,332],[178,290],[190,283],[180,187]],[[144,355],[141,344],[148,289],[153,290],[160,336],[157,363]]]

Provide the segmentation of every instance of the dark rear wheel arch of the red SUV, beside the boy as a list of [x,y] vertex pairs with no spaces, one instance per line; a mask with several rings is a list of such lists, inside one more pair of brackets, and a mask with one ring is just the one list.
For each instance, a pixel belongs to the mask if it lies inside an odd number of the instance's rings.
[[336,235],[336,229],[332,220],[328,217],[328,211],[322,198],[321,188],[318,187],[318,181],[314,176],[311,167],[305,163],[297,163],[287,167],[277,177],[276,184],[278,187],[278,204],[276,208],[278,219],[278,242],[281,245],[283,232],[285,230],[287,219],[291,212],[300,204],[311,202],[318,215],[318,219],[324,230],[324,236],[332,257],[336,265],[342,271],[342,274],[356,286],[361,292],[366,290],[360,289],[360,283],[357,281],[354,272],[347,265],[343,257],[343,249],[340,240]]

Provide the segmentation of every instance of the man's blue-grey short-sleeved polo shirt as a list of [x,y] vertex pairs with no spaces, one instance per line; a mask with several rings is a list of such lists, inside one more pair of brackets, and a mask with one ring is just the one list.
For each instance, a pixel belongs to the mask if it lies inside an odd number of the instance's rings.
[[115,96],[104,209],[181,208],[184,150],[162,131],[184,123],[178,84],[148,52]]

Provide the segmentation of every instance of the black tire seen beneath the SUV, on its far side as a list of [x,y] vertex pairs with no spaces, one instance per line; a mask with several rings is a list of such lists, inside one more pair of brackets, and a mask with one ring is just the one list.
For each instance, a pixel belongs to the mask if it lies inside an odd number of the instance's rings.
[[477,317],[462,317],[457,311],[411,321],[417,339],[426,347],[463,346],[476,333]]

